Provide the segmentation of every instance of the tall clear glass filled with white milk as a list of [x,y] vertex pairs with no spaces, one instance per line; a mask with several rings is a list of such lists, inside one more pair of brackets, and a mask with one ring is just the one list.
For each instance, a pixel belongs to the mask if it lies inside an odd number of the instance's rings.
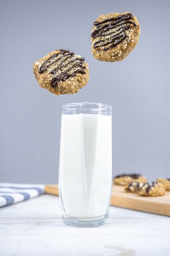
[[64,224],[107,223],[112,189],[110,105],[62,105],[58,183]]

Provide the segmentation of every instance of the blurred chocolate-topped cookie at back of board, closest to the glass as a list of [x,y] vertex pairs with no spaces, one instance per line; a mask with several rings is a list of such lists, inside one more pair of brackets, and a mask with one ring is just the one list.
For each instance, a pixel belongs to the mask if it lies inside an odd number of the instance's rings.
[[126,186],[128,185],[130,182],[148,182],[148,180],[146,179],[146,177],[142,176],[141,174],[126,174],[123,173],[121,175],[117,175],[114,177],[113,182],[117,185],[122,185],[122,186]]

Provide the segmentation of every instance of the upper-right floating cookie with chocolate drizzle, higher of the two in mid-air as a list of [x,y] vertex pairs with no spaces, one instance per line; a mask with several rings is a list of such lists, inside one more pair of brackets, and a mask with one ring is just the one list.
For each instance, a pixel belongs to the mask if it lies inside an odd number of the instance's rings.
[[92,54],[98,61],[124,60],[139,40],[140,25],[131,13],[101,15],[91,31]]

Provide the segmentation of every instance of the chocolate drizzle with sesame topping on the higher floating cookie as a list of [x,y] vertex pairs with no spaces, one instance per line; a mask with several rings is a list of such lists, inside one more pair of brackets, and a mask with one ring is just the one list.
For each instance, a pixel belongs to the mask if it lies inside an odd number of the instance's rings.
[[[94,48],[102,47],[104,50],[111,49],[126,39],[126,30],[131,28],[131,24],[137,26],[131,13],[119,15],[116,18],[108,18],[102,22],[95,21],[93,25],[97,28],[91,33],[93,38],[100,37],[93,44]],[[102,37],[102,39],[101,39]]]

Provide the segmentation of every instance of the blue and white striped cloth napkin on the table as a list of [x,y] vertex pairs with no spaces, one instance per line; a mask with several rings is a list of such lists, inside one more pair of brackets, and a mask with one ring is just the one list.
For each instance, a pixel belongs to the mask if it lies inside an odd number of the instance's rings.
[[0,207],[44,194],[45,185],[0,183]]

